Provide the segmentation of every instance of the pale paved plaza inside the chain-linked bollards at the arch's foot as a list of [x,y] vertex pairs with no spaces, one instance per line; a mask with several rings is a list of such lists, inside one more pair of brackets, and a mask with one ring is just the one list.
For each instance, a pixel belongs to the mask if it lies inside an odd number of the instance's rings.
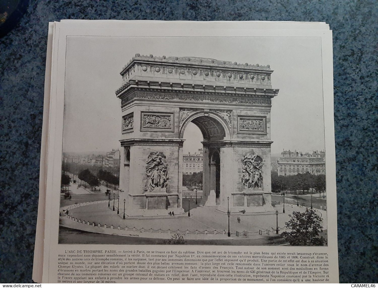
[[[136,229],[154,229],[162,231],[177,231],[182,232],[189,231],[214,231],[218,232],[228,231],[228,217],[226,213],[216,210],[216,207],[197,207],[190,210],[191,216],[169,216],[167,211],[167,218],[151,218],[151,217],[139,217],[133,219],[123,219],[123,207],[120,207],[119,214],[117,214],[117,201],[115,201],[115,211],[113,211],[112,201],[110,207],[107,202],[90,204],[82,207],[77,207],[69,211],[71,217],[95,222],[96,225],[111,225],[114,227],[128,227]],[[289,215],[293,211],[304,212],[305,207],[297,207],[296,205],[285,205],[285,214],[282,213],[283,205],[276,205],[276,209],[279,211],[278,226],[279,231],[285,231],[285,222],[289,220]],[[318,210],[317,210],[318,211]],[[318,211],[318,214],[322,216],[324,229],[327,229],[327,218],[325,211]],[[240,223],[237,218],[240,217]],[[243,215],[242,213],[231,214],[230,216],[230,231],[234,234],[236,231],[243,233],[248,231],[258,234],[259,230],[274,230],[276,229],[276,215]],[[253,236],[251,234],[251,236]]]

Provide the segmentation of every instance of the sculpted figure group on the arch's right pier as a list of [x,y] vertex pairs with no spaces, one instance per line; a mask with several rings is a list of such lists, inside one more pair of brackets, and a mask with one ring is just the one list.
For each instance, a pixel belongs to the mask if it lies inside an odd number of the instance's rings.
[[262,161],[263,159],[254,154],[242,157],[242,183],[245,190],[262,189]]

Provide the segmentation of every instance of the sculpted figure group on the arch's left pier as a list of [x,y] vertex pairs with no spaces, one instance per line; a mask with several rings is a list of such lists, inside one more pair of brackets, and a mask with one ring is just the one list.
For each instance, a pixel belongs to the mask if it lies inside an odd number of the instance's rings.
[[168,164],[163,152],[150,152],[146,162],[146,177],[146,191],[167,189]]

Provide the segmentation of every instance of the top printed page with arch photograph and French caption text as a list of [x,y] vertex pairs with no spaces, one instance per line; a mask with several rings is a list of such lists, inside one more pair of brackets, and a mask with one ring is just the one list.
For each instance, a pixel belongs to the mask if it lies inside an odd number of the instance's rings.
[[43,282],[337,283],[328,25],[82,23],[56,23]]

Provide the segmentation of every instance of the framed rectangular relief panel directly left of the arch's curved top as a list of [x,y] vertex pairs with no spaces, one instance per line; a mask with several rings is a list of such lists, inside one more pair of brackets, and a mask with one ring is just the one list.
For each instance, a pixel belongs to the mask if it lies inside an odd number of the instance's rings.
[[174,131],[173,113],[142,112],[141,131]]

